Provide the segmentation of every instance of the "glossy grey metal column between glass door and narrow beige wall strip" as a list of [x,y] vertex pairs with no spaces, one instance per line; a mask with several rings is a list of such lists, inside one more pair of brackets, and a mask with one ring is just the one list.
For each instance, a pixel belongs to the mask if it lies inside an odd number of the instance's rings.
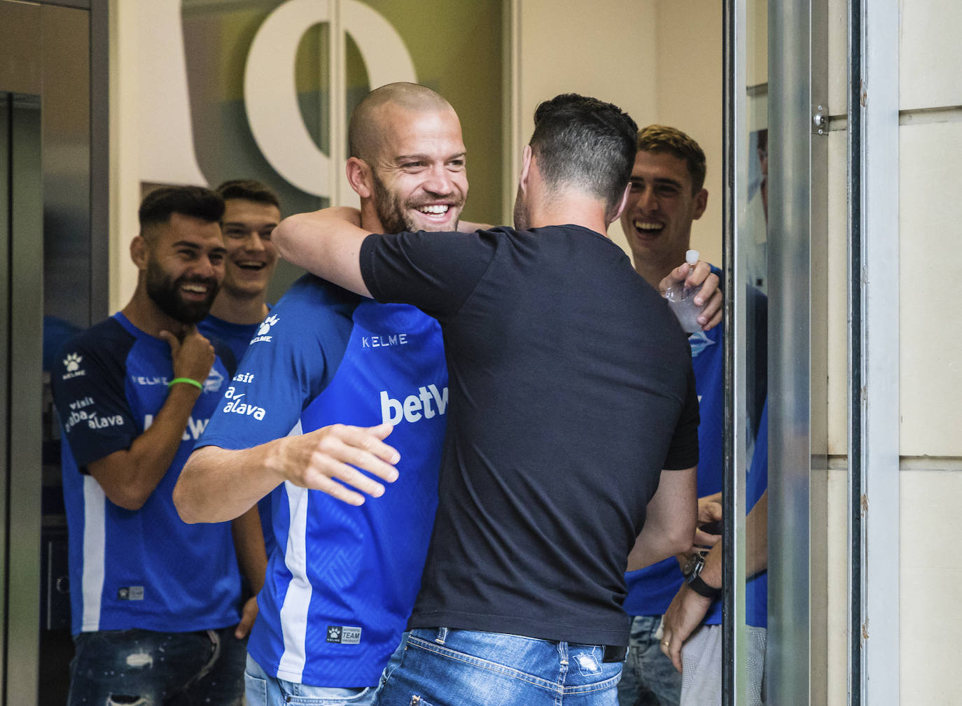
[[826,698],[826,16],[769,3],[769,703]]

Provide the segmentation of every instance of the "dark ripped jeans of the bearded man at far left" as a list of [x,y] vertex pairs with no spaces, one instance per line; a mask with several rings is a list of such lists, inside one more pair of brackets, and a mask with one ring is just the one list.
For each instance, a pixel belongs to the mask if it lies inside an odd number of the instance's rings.
[[247,641],[234,628],[74,636],[68,706],[241,706]]

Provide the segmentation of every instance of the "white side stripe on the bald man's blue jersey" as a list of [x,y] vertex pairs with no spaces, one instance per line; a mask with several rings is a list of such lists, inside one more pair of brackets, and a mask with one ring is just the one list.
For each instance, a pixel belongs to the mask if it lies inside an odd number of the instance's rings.
[[[300,421],[291,434],[302,434]],[[291,583],[281,606],[281,630],[284,633],[284,654],[277,666],[277,676],[300,683],[306,662],[307,614],[311,605],[311,582],[307,577],[307,505],[308,492],[289,481],[284,482],[291,509],[288,545],[284,563],[291,571]]]

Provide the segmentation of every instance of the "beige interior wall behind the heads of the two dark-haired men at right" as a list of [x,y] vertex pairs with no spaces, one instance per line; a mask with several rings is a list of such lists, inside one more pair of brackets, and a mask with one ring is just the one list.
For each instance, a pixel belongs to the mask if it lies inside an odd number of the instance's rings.
[[[639,126],[660,122],[684,130],[708,158],[708,210],[694,224],[693,247],[721,265],[720,0],[600,0],[590,13],[576,0],[517,5],[517,154],[531,136],[535,107],[562,92],[615,103]],[[618,223],[609,236],[628,251]]]

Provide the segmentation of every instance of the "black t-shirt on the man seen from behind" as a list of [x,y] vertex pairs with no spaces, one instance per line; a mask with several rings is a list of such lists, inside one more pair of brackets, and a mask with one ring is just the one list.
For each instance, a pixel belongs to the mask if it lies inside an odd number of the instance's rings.
[[368,236],[378,301],[442,325],[440,502],[410,627],[626,644],[627,555],[697,463],[691,353],[620,248],[567,225]]

